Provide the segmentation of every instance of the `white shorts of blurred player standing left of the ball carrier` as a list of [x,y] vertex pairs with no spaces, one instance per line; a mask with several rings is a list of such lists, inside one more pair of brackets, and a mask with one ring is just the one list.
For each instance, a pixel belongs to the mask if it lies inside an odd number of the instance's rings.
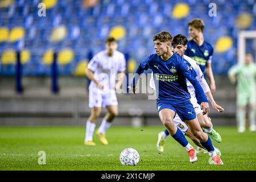
[[98,88],[89,88],[89,107],[106,107],[106,106],[118,105],[117,95],[115,90],[110,90],[107,93],[103,93]]

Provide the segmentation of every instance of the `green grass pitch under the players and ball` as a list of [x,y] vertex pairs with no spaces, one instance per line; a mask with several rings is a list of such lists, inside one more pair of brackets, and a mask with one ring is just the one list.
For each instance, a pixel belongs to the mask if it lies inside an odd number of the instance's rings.
[[[84,146],[84,127],[0,127],[0,170],[256,170],[256,133],[238,134],[236,127],[215,129],[222,142],[213,144],[220,148],[224,166],[210,166],[208,154],[198,154],[198,161],[189,163],[187,152],[171,137],[159,154],[157,135],[164,130],[160,126],[113,126],[107,132],[108,146],[96,134],[97,146]],[[137,166],[119,162],[126,147],[139,152]],[[39,151],[46,152],[45,165],[38,164]]]

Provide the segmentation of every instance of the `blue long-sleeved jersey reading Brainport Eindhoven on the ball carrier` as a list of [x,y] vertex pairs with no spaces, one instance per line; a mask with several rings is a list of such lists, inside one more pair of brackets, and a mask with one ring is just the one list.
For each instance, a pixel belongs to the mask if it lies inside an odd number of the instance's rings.
[[[196,92],[199,92],[198,101],[200,103],[208,102],[203,89],[196,79],[195,70],[187,60],[176,53],[166,61],[154,53],[139,64],[136,73],[140,75],[148,68],[152,69],[154,74],[158,100],[177,102],[189,100],[191,96],[187,88],[187,78],[195,87]],[[131,85],[135,87],[137,80],[138,77],[134,77]],[[156,81],[158,81],[158,83],[156,83]]]

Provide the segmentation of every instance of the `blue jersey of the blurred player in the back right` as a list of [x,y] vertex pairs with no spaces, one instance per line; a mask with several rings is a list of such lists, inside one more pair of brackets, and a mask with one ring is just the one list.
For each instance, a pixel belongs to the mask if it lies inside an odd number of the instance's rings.
[[212,62],[213,47],[205,41],[202,46],[199,46],[195,40],[189,40],[187,46],[185,55],[195,60],[199,64],[201,71],[205,73],[207,63]]

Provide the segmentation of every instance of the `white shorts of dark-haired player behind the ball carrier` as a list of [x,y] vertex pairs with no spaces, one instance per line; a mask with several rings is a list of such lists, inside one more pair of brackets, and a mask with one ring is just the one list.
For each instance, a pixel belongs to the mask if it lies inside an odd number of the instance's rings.
[[[197,104],[196,97],[191,97],[191,104],[193,105],[196,115],[203,113],[203,110],[201,110],[201,106]],[[178,114],[175,115],[174,117],[174,125],[180,129],[184,134],[188,130],[188,126],[184,121],[181,121],[180,117]]]

